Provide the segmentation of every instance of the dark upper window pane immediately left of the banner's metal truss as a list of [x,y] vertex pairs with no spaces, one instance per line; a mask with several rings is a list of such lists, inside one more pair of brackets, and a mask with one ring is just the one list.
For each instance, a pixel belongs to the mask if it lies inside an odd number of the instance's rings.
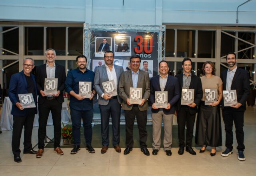
[[83,54],[83,28],[68,28],[68,55]]

